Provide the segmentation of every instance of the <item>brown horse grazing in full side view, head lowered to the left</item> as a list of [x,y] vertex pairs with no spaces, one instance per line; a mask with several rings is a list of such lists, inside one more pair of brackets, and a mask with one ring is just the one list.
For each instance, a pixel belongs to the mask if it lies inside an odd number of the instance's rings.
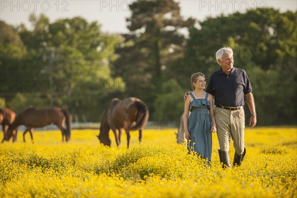
[[[31,140],[33,142],[32,131],[34,128],[45,127],[51,123],[55,124],[62,132],[62,141],[64,141],[64,136],[66,142],[70,140],[71,136],[71,125],[70,116],[64,109],[60,107],[51,107],[46,109],[36,109],[34,107],[29,107],[20,113],[14,120],[14,122],[8,127],[7,135],[5,137],[6,141],[9,141],[11,136],[15,136],[14,130],[18,126],[24,125],[25,131],[23,134],[23,140],[25,141],[25,134],[29,131]],[[63,125],[66,125],[66,129]],[[14,142],[14,141],[13,141]]]

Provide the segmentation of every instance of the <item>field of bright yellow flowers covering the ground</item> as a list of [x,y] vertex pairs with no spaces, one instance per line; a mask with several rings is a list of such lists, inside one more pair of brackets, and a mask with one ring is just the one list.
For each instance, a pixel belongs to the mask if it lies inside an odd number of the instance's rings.
[[[0,197],[285,197],[297,198],[297,128],[246,129],[247,155],[241,167],[223,170],[213,134],[211,167],[176,144],[176,129],[126,135],[116,148],[101,146],[99,130],[73,130],[62,143],[60,131],[22,133],[0,144]],[[3,138],[1,132],[0,139]],[[231,143],[230,157],[234,148]]]

